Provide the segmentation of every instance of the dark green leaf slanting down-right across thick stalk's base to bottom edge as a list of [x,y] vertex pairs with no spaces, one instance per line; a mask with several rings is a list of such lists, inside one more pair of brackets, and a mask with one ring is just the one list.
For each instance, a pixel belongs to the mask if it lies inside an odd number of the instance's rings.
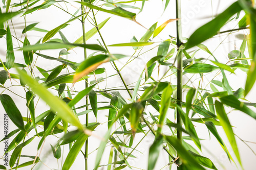
[[175,137],[173,136],[164,136],[165,140],[168,141],[178,152],[178,155],[182,159],[183,163],[185,165],[189,165],[190,169],[204,169],[198,161],[191,155],[189,154],[185,148],[182,146],[180,141],[178,141]]

